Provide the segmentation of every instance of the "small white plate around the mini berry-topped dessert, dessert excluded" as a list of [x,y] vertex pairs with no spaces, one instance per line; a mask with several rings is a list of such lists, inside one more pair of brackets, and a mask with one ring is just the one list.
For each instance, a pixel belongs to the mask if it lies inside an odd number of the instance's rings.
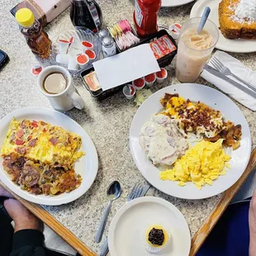
[[[158,254],[145,249],[145,228],[163,225],[171,237],[170,243]],[[114,216],[108,232],[111,256],[187,256],[191,237],[182,213],[159,197],[140,197],[126,203]]]

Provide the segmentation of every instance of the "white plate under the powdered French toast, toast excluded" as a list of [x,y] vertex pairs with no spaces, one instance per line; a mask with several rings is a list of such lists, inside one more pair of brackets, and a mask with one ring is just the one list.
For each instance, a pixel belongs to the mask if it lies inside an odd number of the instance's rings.
[[[218,10],[220,2],[221,0],[198,0],[192,7],[190,17],[201,17],[201,13],[203,12],[204,8],[210,7],[211,13],[209,19],[219,27],[220,23]],[[216,44],[216,48],[234,53],[250,53],[256,51],[256,40],[230,40],[225,38],[220,32],[220,38]]]

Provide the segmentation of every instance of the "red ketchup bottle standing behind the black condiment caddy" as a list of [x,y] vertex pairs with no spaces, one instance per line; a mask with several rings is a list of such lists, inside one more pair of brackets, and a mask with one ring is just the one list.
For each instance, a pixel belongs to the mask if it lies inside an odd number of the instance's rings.
[[135,0],[133,19],[140,37],[146,37],[158,31],[157,16],[161,0]]

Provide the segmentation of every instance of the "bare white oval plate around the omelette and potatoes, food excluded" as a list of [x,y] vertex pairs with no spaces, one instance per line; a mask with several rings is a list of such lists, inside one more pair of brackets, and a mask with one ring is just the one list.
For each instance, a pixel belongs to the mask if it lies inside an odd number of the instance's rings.
[[12,183],[8,174],[2,168],[2,157],[0,156],[0,180],[15,192],[18,196],[26,199],[27,201],[33,201],[41,205],[46,206],[58,206],[68,203],[83,196],[85,192],[92,186],[96,176],[98,168],[97,151],[95,146],[85,130],[78,125],[76,121],[73,121],[69,116],[66,116],[59,111],[54,111],[48,108],[40,107],[27,107],[21,108],[17,111],[5,116],[0,121],[0,148],[2,147],[3,140],[7,134],[10,122],[13,117],[17,120],[27,119],[36,121],[45,121],[53,126],[60,126],[64,130],[69,130],[82,138],[82,149],[85,151],[85,156],[78,160],[75,164],[75,172],[80,174],[83,178],[82,184],[77,189],[69,193],[63,193],[58,196],[47,195],[33,195],[29,192],[21,190],[15,183]]

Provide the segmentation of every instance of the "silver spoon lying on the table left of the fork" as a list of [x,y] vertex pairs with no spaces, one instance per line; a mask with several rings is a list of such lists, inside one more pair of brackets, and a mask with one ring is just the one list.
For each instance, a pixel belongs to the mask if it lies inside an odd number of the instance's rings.
[[109,187],[107,188],[107,197],[109,199],[107,209],[104,212],[104,215],[102,217],[101,225],[98,227],[95,242],[99,243],[102,240],[103,231],[105,229],[106,223],[107,223],[107,216],[110,211],[112,202],[116,200],[121,195],[121,185],[119,182],[115,181],[112,182]]

